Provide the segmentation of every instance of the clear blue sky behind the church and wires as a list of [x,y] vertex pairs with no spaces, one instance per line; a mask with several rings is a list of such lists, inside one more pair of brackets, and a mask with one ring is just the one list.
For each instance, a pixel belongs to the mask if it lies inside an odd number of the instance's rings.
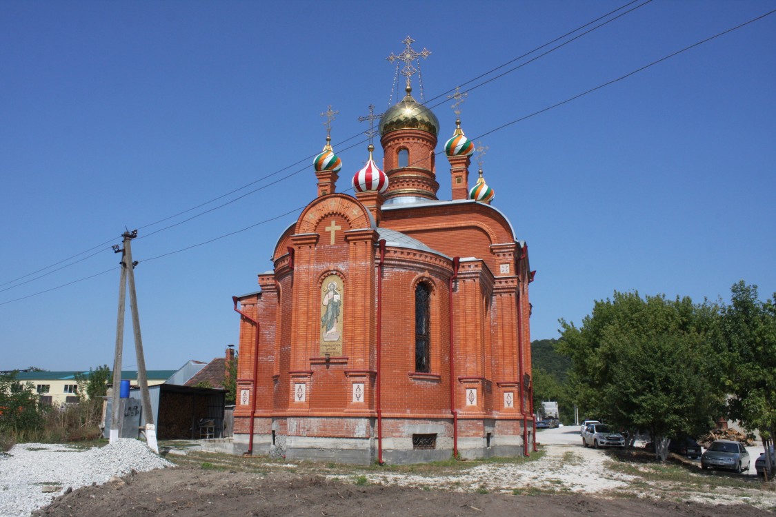
[[[133,254],[147,367],[221,356],[237,343],[231,296],[258,288],[256,274],[272,267],[275,240],[297,212],[148,259],[310,202],[327,105],[339,111],[332,142],[343,161],[338,189],[348,189],[366,160],[363,137],[352,138],[368,129],[357,119],[369,104],[389,105],[394,67],[385,58],[405,36],[431,51],[422,89],[426,100],[442,95],[436,105],[625,3],[0,3],[0,370],[113,364],[119,256],[108,248],[125,226],[140,229]],[[462,127],[479,140],[773,9],[654,0],[469,91]],[[776,291],[774,84],[771,15],[483,137],[494,205],[538,271],[533,339],[557,337],[559,318],[579,323],[615,290],[700,302],[728,299],[743,279],[762,298]],[[433,108],[438,150],[455,127],[449,104]],[[450,197],[445,162],[440,198]],[[99,253],[78,264],[14,281],[93,246]],[[129,313],[126,332],[130,368]]]

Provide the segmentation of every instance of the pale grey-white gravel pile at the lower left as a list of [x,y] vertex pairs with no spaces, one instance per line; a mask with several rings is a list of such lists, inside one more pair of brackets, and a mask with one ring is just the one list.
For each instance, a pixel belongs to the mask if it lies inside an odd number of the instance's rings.
[[137,439],[122,438],[92,449],[19,443],[0,453],[0,517],[29,515],[68,488],[103,484],[132,470],[165,467],[172,464]]

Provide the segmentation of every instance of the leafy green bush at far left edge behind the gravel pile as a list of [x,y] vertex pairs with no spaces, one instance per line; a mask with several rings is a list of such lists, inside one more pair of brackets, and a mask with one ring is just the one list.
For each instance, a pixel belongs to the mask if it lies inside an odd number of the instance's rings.
[[40,429],[44,412],[32,383],[22,384],[16,372],[0,375],[0,433]]

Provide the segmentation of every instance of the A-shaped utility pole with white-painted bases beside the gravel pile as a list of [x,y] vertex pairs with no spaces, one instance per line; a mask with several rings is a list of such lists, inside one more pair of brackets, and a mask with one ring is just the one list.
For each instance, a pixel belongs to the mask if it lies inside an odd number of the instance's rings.
[[[123,249],[119,246],[113,246],[113,251],[123,253],[121,260],[121,280],[119,286],[119,319],[116,323],[116,358],[113,368],[113,419],[110,428],[110,437],[118,438],[118,416],[119,416],[119,397],[117,387],[121,384],[121,356],[123,349],[123,331],[124,331],[124,303],[126,300],[126,283],[130,284],[130,310],[132,311],[132,330],[135,338],[135,355],[137,357],[137,384],[140,385],[140,402],[143,407],[143,415],[146,422],[146,443],[154,450],[159,452],[156,442],[156,426],[154,422],[154,412],[151,409],[151,395],[148,393],[148,379],[145,369],[145,357],[143,353],[143,338],[140,336],[140,313],[137,310],[137,293],[135,291],[134,268],[137,262],[132,260],[132,240],[137,237],[137,230],[123,233]],[[118,371],[118,373],[116,373]],[[118,381],[116,381],[118,378]]]

